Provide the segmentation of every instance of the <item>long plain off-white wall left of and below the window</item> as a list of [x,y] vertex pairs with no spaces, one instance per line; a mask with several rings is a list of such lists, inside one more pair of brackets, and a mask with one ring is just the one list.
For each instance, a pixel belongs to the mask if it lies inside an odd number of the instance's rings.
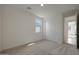
[[3,49],[42,39],[42,33],[35,33],[34,14],[9,6],[3,12]]

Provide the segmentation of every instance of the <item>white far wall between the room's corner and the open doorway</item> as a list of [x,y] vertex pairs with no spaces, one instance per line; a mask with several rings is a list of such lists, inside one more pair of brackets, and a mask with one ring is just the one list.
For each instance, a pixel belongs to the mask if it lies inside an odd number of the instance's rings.
[[54,12],[46,18],[46,38],[61,44],[63,42],[63,17]]

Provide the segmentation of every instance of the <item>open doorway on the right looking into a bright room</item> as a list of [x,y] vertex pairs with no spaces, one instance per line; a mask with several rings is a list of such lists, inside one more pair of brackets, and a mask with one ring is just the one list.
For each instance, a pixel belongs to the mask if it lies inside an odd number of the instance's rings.
[[76,45],[76,16],[65,17],[64,21],[64,41],[67,44]]

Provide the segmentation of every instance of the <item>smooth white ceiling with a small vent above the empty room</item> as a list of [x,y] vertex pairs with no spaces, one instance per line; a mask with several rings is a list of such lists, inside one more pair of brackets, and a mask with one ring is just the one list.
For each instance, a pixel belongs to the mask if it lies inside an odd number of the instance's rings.
[[[30,11],[41,17],[50,16],[55,12],[63,13],[68,10],[76,9],[79,7],[78,4],[45,4],[44,6],[41,6],[40,4],[17,4],[10,6]],[[27,7],[31,7],[31,9],[27,9]]]

